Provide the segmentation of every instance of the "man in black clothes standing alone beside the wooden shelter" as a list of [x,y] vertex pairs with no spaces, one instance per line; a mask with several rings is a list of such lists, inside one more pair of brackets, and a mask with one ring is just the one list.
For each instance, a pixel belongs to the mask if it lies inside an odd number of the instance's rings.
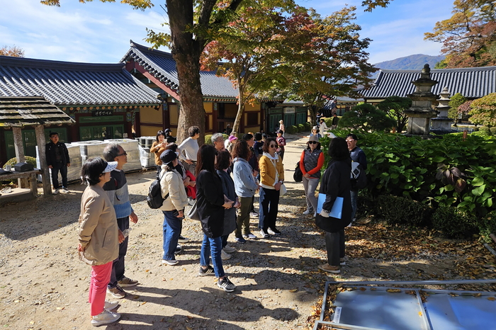
[[50,142],[45,145],[45,155],[47,157],[48,168],[52,171],[53,194],[57,195],[60,191],[59,171],[62,176],[62,191],[69,193],[67,189],[67,167],[71,166],[69,152],[62,142],[59,142],[59,134],[50,132]]

